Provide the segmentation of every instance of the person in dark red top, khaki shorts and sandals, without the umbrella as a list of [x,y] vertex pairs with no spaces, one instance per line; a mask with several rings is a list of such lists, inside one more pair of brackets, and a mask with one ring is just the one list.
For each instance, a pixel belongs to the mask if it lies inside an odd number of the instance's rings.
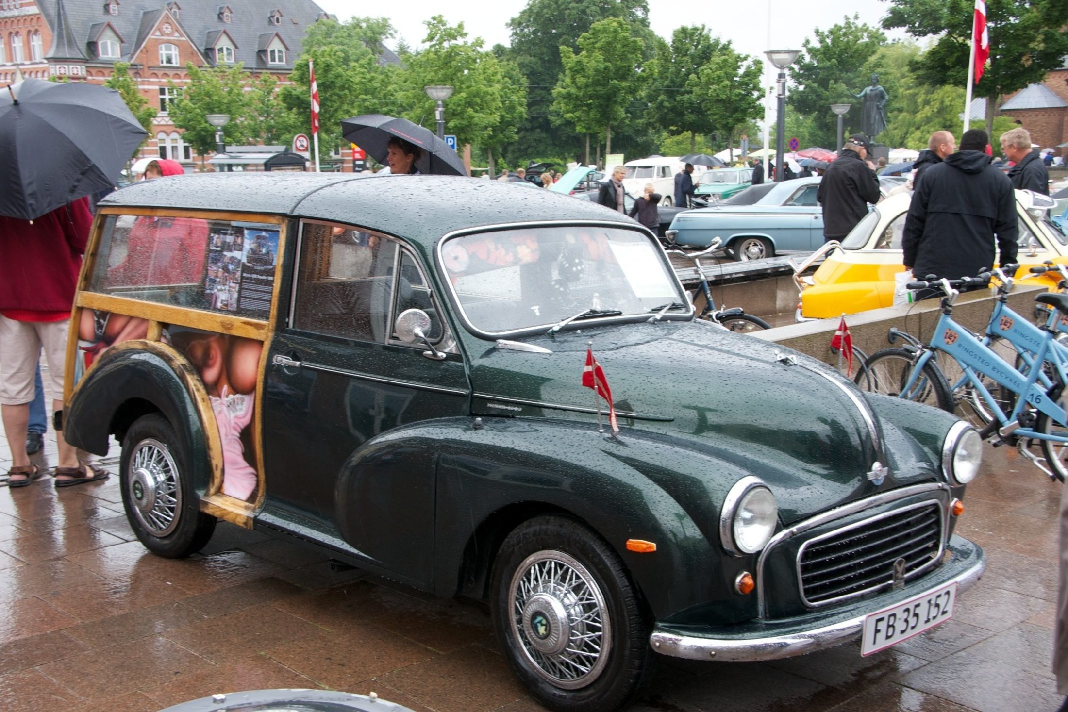
[[[36,220],[0,216],[0,411],[13,466],[7,485],[26,487],[42,475],[26,453],[33,376],[44,349],[52,407],[63,409],[63,374],[70,307],[93,216],[80,199]],[[104,479],[78,463],[77,450],[57,428],[56,486]]]

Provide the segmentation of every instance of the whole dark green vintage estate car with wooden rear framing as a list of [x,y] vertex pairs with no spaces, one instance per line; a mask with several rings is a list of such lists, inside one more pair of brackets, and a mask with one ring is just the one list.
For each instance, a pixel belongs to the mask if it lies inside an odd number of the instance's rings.
[[223,519],[487,601],[556,710],[625,706],[658,653],[875,652],[983,572],[953,534],[973,429],[695,320],[619,213],[314,174],[163,178],[100,206],[65,433],[122,442],[126,511],[161,555]]

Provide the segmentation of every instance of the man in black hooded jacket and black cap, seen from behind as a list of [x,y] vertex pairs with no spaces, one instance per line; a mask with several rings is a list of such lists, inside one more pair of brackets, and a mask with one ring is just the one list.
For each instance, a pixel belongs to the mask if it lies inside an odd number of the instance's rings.
[[[1016,196],[990,163],[987,141],[986,131],[965,131],[960,151],[927,169],[912,193],[901,247],[905,268],[917,280],[958,280],[992,268],[995,240],[999,264],[1016,262]],[[917,296],[941,294],[925,289]]]

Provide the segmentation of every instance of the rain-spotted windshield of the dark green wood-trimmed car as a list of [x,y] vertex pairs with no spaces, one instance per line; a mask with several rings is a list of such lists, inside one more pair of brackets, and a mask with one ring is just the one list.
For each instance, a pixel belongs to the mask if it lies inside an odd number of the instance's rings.
[[461,235],[441,246],[464,316],[491,335],[545,331],[583,310],[646,315],[688,303],[661,255],[647,235],[598,225]]

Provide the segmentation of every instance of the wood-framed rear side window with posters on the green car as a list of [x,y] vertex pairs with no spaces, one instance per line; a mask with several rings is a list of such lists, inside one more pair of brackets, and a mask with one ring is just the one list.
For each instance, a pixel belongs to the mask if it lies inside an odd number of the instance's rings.
[[277,224],[108,217],[89,290],[266,319],[278,247]]

